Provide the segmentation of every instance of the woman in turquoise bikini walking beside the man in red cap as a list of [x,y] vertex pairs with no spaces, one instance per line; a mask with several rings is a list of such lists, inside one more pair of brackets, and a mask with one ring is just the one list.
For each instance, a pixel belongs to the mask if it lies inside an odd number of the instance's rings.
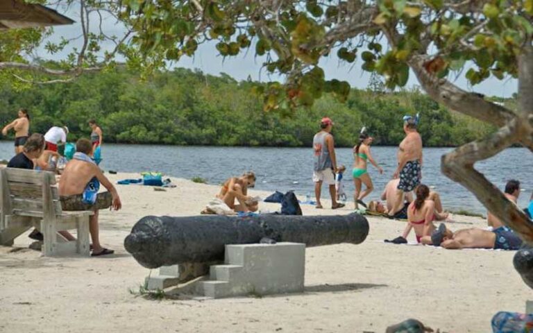
[[[369,160],[380,173],[383,173],[383,169],[378,165],[378,163],[375,162],[375,160],[372,158],[372,155],[370,154],[370,144],[373,141],[373,137],[370,137],[368,133],[366,133],[366,129],[363,128],[361,130],[361,134],[359,134],[359,143],[357,146],[353,147],[353,183],[355,184],[355,193],[353,194],[353,201],[355,205],[355,209],[358,209],[358,204],[363,205],[366,207],[365,203],[363,203],[362,199],[365,196],[368,196],[370,192],[374,189],[372,185],[372,180],[370,178],[369,173],[366,171],[366,164],[367,160]],[[362,183],[366,186],[366,189],[361,192]]]

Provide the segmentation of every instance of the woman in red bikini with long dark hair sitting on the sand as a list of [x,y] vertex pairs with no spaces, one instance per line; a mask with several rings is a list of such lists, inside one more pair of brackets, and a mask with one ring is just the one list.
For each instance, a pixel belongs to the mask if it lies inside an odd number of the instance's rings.
[[444,220],[448,218],[448,213],[440,213],[435,208],[435,202],[429,200],[430,189],[421,184],[415,189],[416,199],[407,207],[407,221],[409,222],[403,231],[402,237],[407,239],[411,229],[414,229],[416,241],[424,236],[431,236],[436,229],[433,224],[434,220]]

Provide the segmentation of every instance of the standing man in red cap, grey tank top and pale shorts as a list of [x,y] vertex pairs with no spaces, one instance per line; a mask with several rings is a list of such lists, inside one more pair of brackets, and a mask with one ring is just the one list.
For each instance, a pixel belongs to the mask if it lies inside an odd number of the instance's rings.
[[335,142],[331,135],[333,121],[324,117],[320,122],[321,131],[313,137],[314,169],[313,182],[314,194],[316,196],[316,208],[322,208],[320,195],[322,182],[330,187],[331,208],[335,210],[344,207],[344,204],[337,203],[337,193],[335,191],[335,172],[337,172],[337,159],[335,158]]

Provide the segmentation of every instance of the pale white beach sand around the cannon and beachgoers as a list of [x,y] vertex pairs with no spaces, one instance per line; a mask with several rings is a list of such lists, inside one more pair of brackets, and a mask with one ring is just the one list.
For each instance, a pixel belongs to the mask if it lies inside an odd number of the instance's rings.
[[[407,318],[441,332],[491,332],[497,311],[523,312],[525,300],[533,298],[514,271],[514,252],[384,244],[405,223],[376,218],[369,219],[363,244],[307,249],[303,294],[203,301],[135,297],[128,289],[138,289],[149,273],[124,250],[135,222],[149,214],[198,214],[219,190],[173,181],[178,187],[167,191],[117,185],[124,208],[102,211],[100,223],[101,241],[116,250],[113,256],[41,257],[27,248],[26,235],[15,240],[17,251],[0,246],[0,332],[384,332]],[[302,208],[305,215],[350,212]],[[452,230],[486,225],[456,217],[472,224],[449,224]]]

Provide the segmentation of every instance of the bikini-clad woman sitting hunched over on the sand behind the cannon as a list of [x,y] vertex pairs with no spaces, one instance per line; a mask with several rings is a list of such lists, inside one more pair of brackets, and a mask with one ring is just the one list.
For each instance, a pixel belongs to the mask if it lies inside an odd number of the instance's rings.
[[[259,203],[248,196],[248,187],[254,186],[255,174],[249,171],[240,177],[228,178],[217,194],[217,198],[223,200],[235,212],[255,212]],[[239,202],[238,205],[235,205],[235,199]]]

